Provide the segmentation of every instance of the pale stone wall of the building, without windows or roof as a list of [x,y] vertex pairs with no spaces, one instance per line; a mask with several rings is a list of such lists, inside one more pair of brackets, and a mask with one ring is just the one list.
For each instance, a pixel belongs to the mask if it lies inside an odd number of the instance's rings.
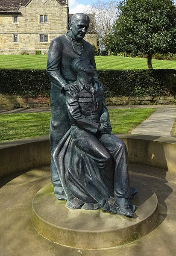
[[[26,7],[21,7],[18,23],[13,23],[13,15],[0,15],[0,54],[35,54],[41,50],[48,52],[50,42],[56,36],[67,31],[67,7],[62,7],[56,0],[32,0]],[[39,15],[48,15],[48,23],[40,23]],[[18,34],[18,42],[13,42],[13,35]],[[40,42],[40,34],[48,35],[48,42]]]

